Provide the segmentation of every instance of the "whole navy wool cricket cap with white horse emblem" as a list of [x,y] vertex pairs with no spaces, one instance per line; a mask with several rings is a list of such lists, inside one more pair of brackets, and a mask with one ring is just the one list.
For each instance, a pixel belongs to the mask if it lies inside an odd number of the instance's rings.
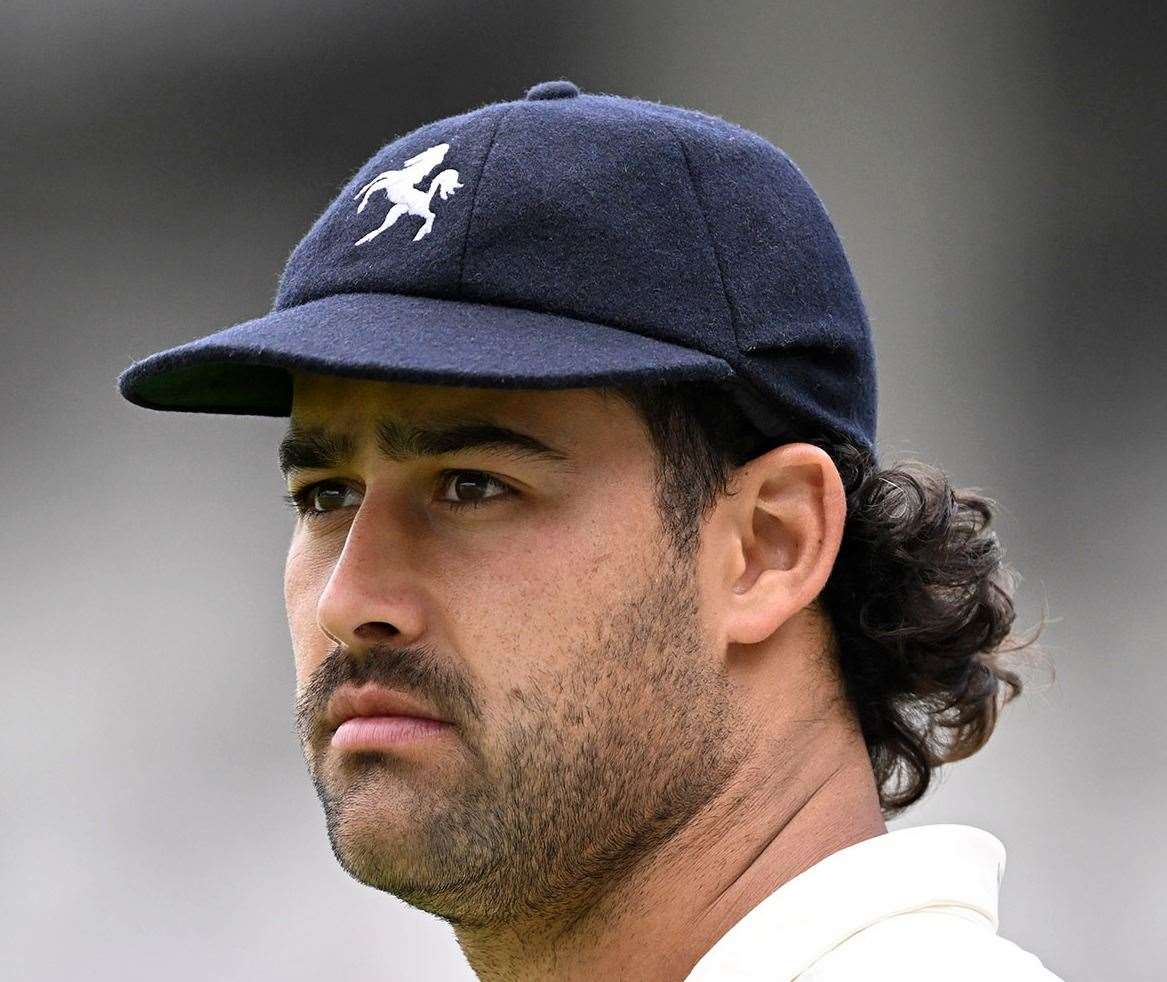
[[118,378],[147,409],[289,416],[291,371],[466,386],[725,385],[767,436],[874,452],[875,357],[822,201],[715,116],[566,79],[378,151],[265,316]]

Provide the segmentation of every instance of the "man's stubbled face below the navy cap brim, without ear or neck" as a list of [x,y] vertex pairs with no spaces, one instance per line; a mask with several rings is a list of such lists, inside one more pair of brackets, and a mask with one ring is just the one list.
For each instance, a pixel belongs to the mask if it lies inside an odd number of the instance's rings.
[[[564,459],[378,450],[385,420],[400,434],[464,417]],[[725,787],[742,750],[724,652],[665,538],[629,406],[594,389],[296,375],[292,422],[357,441],[349,462],[289,475],[326,483],[285,570],[302,748],[351,876],[455,927],[546,919]],[[454,725],[331,746],[330,696],[365,682]]]

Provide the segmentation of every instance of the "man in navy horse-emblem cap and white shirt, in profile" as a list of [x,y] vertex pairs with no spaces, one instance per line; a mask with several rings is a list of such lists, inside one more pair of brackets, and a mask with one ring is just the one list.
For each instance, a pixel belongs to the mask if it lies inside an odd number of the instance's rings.
[[1013,606],[987,503],[876,465],[858,288],[757,134],[564,79],[421,126],[272,313],[119,384],[291,417],[329,841],[478,977],[1055,978],[993,835],[887,831],[1020,691]]

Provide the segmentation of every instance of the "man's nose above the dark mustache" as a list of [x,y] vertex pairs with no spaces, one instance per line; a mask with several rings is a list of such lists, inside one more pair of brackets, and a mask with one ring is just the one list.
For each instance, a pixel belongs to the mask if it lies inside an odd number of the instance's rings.
[[359,649],[373,643],[405,647],[425,633],[415,543],[385,502],[366,499],[349,527],[344,548],[316,604],[316,624],[333,641]]

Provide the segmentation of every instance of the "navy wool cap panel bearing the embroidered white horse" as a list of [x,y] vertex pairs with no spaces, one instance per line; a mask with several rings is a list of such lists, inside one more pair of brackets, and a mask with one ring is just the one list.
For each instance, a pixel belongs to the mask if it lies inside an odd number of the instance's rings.
[[293,251],[274,308],[335,293],[456,298],[482,162],[510,105],[440,119],[378,151]]

